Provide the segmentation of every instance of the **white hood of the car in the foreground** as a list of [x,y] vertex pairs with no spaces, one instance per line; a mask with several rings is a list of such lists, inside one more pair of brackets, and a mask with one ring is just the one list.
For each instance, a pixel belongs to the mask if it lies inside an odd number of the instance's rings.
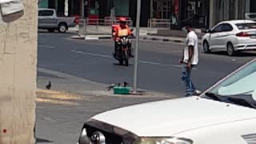
[[110,110],[93,119],[129,130],[141,137],[156,137],[250,118],[256,118],[256,110],[190,97]]

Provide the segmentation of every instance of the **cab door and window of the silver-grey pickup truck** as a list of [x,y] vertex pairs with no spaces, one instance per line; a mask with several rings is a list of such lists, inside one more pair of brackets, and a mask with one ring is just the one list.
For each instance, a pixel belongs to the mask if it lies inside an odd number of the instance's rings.
[[38,11],[38,26],[42,28],[56,27],[57,19],[54,18],[54,10],[39,10]]

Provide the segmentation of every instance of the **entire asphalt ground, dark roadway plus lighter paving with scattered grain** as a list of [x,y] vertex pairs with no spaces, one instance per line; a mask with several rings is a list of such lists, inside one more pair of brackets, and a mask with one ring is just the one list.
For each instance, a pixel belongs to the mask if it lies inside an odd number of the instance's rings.
[[[78,140],[83,122],[91,116],[142,102],[183,97],[185,87],[180,79],[181,43],[141,41],[138,87],[150,90],[150,96],[113,96],[106,86],[133,82],[134,62],[118,66],[111,53],[113,43],[70,40],[70,34],[38,34],[38,88],[48,81],[52,90],[78,94],[77,99],[64,96],[40,98],[37,102],[37,142],[70,144]],[[193,71],[194,84],[206,90],[231,71],[255,58],[255,52],[236,57],[226,53],[200,53],[200,63]],[[47,96],[47,94],[44,94]],[[167,111],[166,111],[167,112]]]

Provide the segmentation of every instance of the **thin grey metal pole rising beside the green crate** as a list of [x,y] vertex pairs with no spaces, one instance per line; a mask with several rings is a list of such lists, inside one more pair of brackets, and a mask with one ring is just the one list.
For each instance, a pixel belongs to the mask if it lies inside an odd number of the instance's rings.
[[141,17],[141,0],[137,0],[137,20],[136,20],[136,46],[134,59],[134,93],[137,93],[137,79],[138,79],[138,46],[139,46],[139,25]]

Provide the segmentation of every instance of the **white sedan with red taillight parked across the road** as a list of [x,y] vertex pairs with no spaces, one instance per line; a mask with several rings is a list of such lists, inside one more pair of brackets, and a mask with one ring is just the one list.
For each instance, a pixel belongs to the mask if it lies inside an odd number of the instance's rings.
[[220,22],[202,37],[202,50],[225,50],[232,56],[239,50],[256,50],[256,22],[234,20]]

